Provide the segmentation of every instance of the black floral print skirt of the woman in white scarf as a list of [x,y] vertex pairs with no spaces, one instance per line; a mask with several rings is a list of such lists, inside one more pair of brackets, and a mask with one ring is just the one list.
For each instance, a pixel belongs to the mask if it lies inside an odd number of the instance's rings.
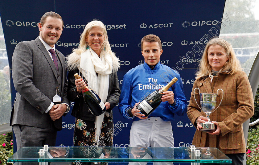
[[[96,146],[94,121],[82,120],[76,118],[76,124],[73,136],[74,146]],[[113,144],[113,119],[104,115],[101,126],[101,135],[99,146],[112,146]],[[86,151],[82,151],[86,152]],[[100,151],[102,153],[102,151]],[[76,154],[76,153],[74,153]],[[81,155],[81,153],[80,153]],[[108,162],[73,162],[72,165],[90,165],[90,164],[108,164]]]

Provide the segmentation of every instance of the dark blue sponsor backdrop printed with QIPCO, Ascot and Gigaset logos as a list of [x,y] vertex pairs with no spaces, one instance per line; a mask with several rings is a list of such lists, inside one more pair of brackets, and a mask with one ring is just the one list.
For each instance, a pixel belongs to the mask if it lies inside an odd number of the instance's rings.
[[[190,99],[197,62],[206,41],[219,35],[222,19],[229,20],[227,16],[223,16],[224,0],[49,0],[45,3],[0,0],[0,3],[10,68],[16,44],[35,39],[39,35],[37,23],[41,16],[47,11],[55,11],[64,21],[63,32],[56,48],[65,56],[72,52],[73,47],[78,46],[80,34],[88,22],[99,19],[106,25],[112,50],[121,60],[121,69],[118,71],[120,85],[123,75],[143,60],[140,49],[142,37],[147,34],[158,35],[163,49],[161,63],[180,73],[187,100]],[[12,102],[15,93],[12,84]],[[71,108],[72,106],[73,103]],[[116,129],[113,146],[128,146],[132,121],[123,119],[117,106],[113,109],[113,115]],[[63,118],[63,130],[58,132],[56,146],[73,145],[74,122],[71,115]],[[195,128],[187,115],[175,116],[172,128],[175,147],[191,144]]]

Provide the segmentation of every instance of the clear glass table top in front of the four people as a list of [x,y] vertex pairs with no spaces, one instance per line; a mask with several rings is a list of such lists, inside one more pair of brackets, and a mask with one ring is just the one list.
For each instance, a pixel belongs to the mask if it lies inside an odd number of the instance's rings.
[[[232,163],[217,148],[189,147],[23,147],[8,162],[186,162]],[[199,150],[199,151],[197,151]]]

